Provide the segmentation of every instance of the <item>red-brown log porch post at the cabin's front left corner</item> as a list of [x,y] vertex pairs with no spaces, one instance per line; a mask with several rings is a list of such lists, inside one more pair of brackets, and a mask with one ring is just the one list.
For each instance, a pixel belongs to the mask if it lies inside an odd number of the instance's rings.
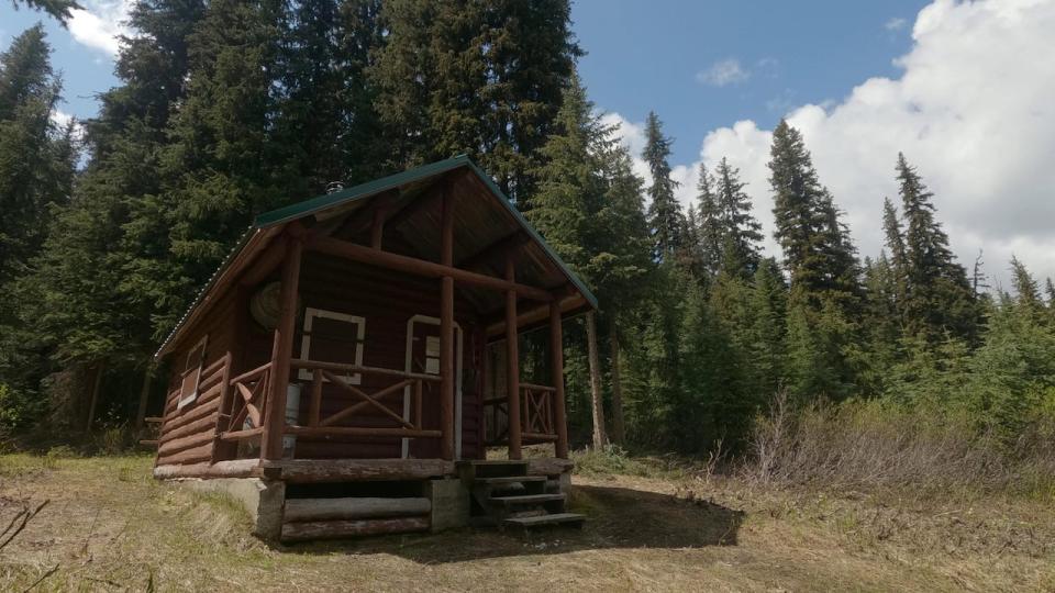
[[[295,223],[296,225],[296,223]],[[264,435],[260,438],[260,458],[282,458],[282,433],[286,428],[286,389],[289,384],[289,361],[293,356],[293,333],[297,331],[297,284],[300,281],[300,256],[303,251],[300,226],[291,226],[286,237],[282,259],[280,314],[275,326],[271,346],[270,382],[264,413]]]

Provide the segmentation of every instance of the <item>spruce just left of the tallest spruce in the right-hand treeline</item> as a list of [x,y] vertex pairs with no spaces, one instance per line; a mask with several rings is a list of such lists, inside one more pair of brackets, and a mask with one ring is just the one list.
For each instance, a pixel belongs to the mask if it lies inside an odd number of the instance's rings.
[[762,224],[751,214],[751,197],[740,180],[740,169],[724,157],[714,171],[719,224],[722,235],[721,265],[725,273],[749,279],[762,260]]

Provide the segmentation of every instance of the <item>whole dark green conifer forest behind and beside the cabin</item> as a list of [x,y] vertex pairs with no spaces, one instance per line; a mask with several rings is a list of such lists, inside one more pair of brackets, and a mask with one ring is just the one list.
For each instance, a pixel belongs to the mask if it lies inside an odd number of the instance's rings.
[[[658,116],[631,155],[590,102],[569,13],[568,0],[143,0],[121,85],[82,128],[51,116],[60,81],[42,27],[15,37],[0,56],[0,423],[134,423],[141,389],[160,388],[154,349],[255,214],[462,153],[600,299],[566,336],[579,443],[736,447],[778,391],[955,411],[1008,443],[1055,416],[1052,281],[1042,294],[1018,261],[1010,292],[980,258],[968,272],[903,155],[869,257],[786,122],[775,228],[724,159],[682,208]],[[764,233],[782,257],[763,254]],[[525,377],[544,366],[533,340]]]

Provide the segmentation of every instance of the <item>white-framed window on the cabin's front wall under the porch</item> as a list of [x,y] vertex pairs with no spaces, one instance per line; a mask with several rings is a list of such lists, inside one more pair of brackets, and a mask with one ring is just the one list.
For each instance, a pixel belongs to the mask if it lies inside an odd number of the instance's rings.
[[[320,362],[363,365],[363,340],[366,321],[363,317],[308,307],[304,311],[304,333],[300,342],[300,357]],[[300,379],[311,380],[311,370],[300,369]],[[358,373],[347,376],[352,384],[359,384]]]

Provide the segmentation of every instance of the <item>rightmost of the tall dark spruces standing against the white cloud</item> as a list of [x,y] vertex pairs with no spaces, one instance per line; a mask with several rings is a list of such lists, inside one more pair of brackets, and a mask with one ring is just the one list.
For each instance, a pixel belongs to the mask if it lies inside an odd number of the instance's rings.
[[977,306],[967,272],[948,248],[948,236],[934,219],[933,194],[919,174],[898,154],[898,181],[907,221],[906,323],[911,333],[935,342],[951,332],[973,339],[977,333]]

